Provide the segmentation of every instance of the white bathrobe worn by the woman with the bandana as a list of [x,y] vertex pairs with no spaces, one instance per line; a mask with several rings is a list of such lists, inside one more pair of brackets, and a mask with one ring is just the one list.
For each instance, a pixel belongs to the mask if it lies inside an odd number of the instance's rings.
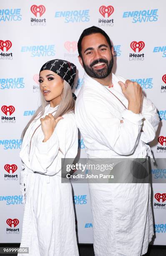
[[[47,105],[43,116],[57,108]],[[72,188],[70,183],[61,183],[61,158],[77,155],[78,129],[74,113],[63,118],[46,142],[40,118],[31,123],[20,151],[23,194],[25,188],[20,246],[29,247],[30,256],[78,256]]]

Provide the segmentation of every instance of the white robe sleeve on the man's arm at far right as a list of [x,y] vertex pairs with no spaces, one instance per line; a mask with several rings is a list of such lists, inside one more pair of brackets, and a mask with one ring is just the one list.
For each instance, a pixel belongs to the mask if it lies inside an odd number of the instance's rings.
[[148,143],[155,138],[160,119],[155,105],[144,95],[142,95],[141,114],[143,115],[143,132],[140,139]]

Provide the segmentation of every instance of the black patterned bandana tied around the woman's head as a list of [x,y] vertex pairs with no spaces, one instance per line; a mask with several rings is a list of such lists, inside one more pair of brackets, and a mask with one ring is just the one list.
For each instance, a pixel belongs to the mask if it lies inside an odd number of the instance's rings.
[[54,73],[58,74],[62,79],[68,82],[73,87],[74,79],[76,76],[76,66],[62,59],[53,59],[47,61],[40,69],[40,72],[43,70],[51,70]]

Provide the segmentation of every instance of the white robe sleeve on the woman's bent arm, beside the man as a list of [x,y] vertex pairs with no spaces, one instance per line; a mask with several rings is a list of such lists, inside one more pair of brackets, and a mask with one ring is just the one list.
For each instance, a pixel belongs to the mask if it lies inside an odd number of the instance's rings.
[[[35,152],[31,161],[33,172],[54,175],[61,170],[61,158],[65,158],[69,148],[75,143],[73,140],[73,137],[77,136],[75,129],[77,129],[75,123],[65,115],[64,119],[58,122],[48,141],[43,142],[43,137],[35,142]],[[78,145],[75,156],[77,149]]]

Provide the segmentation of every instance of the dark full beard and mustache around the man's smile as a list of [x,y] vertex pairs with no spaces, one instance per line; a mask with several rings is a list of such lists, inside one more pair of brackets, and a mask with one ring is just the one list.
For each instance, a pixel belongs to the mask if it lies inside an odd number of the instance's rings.
[[[83,61],[83,59],[82,59],[82,61]],[[103,69],[94,70],[93,65],[100,63],[100,62],[106,63],[106,67],[104,67]],[[83,67],[85,69],[85,72],[90,77],[99,78],[99,79],[108,77],[108,75],[111,73],[112,68],[113,68],[113,56],[109,63],[108,63],[108,60],[106,60],[106,59],[97,59],[97,60],[93,61],[90,66],[86,66],[85,63],[83,62]]]

